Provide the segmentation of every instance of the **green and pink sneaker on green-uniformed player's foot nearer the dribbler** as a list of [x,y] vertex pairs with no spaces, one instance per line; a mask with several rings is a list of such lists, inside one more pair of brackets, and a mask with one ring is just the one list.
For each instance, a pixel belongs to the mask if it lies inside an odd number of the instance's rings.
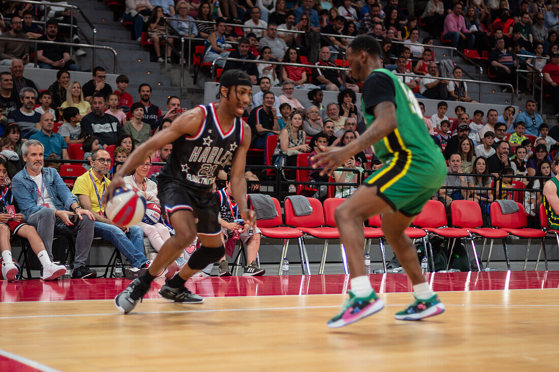
[[338,328],[347,326],[359,319],[379,312],[384,307],[384,303],[377,297],[374,290],[366,297],[357,297],[352,291],[348,291],[349,298],[342,305],[340,313],[331,318],[328,327]]

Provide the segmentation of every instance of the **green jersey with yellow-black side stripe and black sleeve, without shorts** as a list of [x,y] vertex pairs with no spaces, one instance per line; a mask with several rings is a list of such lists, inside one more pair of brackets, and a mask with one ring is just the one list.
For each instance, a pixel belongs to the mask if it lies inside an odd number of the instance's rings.
[[383,68],[373,70],[363,83],[361,105],[367,127],[375,121],[373,109],[381,102],[394,103],[398,123],[397,129],[373,145],[376,156],[389,166],[386,172],[395,174],[399,170],[399,177],[385,178],[387,183],[406,174],[423,186],[431,186],[440,177],[444,179],[444,157],[429,135],[414,93]]

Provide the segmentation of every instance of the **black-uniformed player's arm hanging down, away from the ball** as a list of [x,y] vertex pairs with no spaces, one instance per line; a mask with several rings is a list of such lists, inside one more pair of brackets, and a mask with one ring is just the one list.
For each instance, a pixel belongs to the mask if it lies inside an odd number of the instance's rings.
[[250,127],[243,123],[243,142],[236,150],[231,162],[231,195],[237,202],[241,218],[245,223],[256,227],[256,214],[247,206],[247,179],[244,176],[245,165],[247,163],[247,152],[250,146]]

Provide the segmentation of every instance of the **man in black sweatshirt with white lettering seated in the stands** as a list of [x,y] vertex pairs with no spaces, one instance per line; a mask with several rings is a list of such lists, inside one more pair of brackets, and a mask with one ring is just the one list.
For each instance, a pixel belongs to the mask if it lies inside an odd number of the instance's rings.
[[105,114],[105,96],[102,93],[94,93],[92,102],[92,112],[82,117],[80,123],[83,133],[96,136],[103,149],[117,145],[117,139],[124,134],[119,119]]

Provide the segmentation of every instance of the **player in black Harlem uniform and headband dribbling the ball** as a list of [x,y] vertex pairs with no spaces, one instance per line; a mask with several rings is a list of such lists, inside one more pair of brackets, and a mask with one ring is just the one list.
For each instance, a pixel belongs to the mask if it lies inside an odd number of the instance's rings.
[[124,187],[123,176],[134,171],[156,149],[173,143],[173,151],[158,176],[157,188],[162,209],[176,234],[163,244],[148,271],[116,296],[116,307],[122,313],[134,309],[155,276],[176,260],[196,236],[202,247],[192,254],[181,271],[165,281],[159,295],[178,303],[203,302],[203,298],[186,289],[184,283],[225,254],[217,220],[219,205],[212,195],[212,184],[219,169],[231,159],[231,195],[239,205],[241,218],[255,227],[254,211],[247,207],[244,177],[250,128],[240,119],[252,98],[248,74],[241,70],[222,74],[218,98],[219,102],[188,110],[169,128],[136,148],[107,188],[105,202],[116,187]]

